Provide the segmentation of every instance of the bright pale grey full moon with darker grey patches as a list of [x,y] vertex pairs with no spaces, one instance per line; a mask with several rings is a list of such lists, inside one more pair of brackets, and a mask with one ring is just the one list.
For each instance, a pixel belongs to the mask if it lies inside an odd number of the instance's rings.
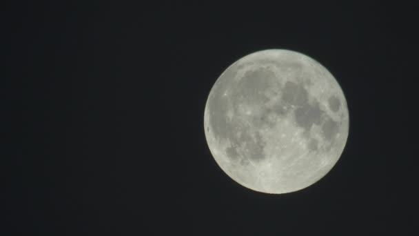
[[339,83],[318,61],[262,50],[232,63],[207,98],[204,129],[220,168],[262,193],[291,193],[323,178],[349,132]]

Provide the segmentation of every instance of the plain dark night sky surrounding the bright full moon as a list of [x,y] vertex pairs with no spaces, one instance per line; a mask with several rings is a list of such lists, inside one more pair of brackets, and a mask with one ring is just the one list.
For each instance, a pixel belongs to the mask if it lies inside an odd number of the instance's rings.
[[[0,235],[416,231],[413,6],[9,2],[1,15]],[[349,106],[338,164],[286,195],[229,179],[203,130],[221,72],[267,48],[320,61]]]

